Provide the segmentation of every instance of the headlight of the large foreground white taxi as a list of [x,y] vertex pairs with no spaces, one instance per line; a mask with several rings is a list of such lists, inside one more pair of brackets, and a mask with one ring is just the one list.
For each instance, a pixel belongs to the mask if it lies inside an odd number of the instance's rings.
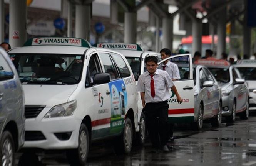
[[66,117],[73,115],[75,108],[77,108],[77,101],[73,100],[65,104],[60,104],[52,107],[44,118]]

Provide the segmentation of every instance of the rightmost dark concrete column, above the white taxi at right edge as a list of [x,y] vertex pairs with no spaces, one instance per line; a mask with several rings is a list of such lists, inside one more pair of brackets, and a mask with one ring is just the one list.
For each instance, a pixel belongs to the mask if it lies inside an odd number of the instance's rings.
[[[245,8],[247,9],[247,1],[244,1]],[[251,27],[247,26],[247,12],[244,12],[244,25],[243,25],[243,53],[248,58],[251,56]]]

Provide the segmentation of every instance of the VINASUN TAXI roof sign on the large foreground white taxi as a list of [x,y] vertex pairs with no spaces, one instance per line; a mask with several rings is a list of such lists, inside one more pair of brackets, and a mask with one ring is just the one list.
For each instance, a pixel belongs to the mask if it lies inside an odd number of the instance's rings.
[[32,38],[25,42],[23,46],[80,46],[91,48],[91,44],[81,38],[64,38],[64,37],[42,37]]

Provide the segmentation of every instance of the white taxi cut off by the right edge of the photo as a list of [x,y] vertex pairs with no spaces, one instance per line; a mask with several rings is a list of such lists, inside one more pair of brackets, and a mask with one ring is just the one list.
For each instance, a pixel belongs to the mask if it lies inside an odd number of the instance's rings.
[[256,60],[240,60],[234,65],[249,86],[249,110],[256,110]]

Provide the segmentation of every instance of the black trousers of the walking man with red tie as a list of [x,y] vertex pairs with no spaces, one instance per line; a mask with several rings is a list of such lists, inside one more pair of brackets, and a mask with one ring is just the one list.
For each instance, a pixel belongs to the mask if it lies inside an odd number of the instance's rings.
[[167,143],[169,136],[167,101],[147,103],[144,110],[149,136],[154,148],[159,148]]

